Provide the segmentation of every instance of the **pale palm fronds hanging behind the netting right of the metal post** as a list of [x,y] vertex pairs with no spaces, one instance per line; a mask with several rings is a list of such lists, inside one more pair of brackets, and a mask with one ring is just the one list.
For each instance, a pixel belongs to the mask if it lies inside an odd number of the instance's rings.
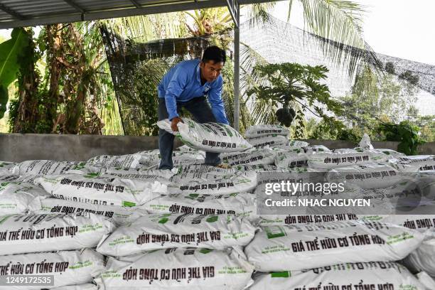
[[[333,60],[337,67],[348,70],[350,80],[355,79],[355,85],[365,86],[365,83],[358,83],[364,78],[359,77],[367,70],[379,80],[380,61],[370,45],[363,38],[363,6],[353,1],[342,0],[298,0],[304,13],[306,31],[313,33],[321,45],[323,54]],[[288,21],[294,0],[289,1]],[[273,6],[273,5],[272,5]],[[264,11],[257,13],[268,21]],[[254,21],[251,21],[254,22]],[[249,25],[252,25],[252,23]],[[258,23],[258,22],[257,22]],[[309,38],[307,38],[308,40]],[[252,68],[254,65],[266,64],[267,60],[262,55],[255,53],[247,47],[241,51],[242,63],[242,87],[246,92],[250,86],[262,84],[264,80],[255,75]],[[274,112],[276,107],[263,100],[248,100],[243,93],[242,99],[252,105],[252,119],[258,123],[275,122]]]

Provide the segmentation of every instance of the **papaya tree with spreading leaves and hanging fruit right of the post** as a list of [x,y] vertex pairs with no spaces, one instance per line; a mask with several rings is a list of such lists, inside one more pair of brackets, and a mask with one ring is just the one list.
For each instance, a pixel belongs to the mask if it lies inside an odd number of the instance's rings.
[[282,104],[282,108],[276,110],[276,119],[286,127],[290,127],[291,122],[298,119],[291,105],[301,107],[301,114],[307,109],[323,119],[330,118],[324,109],[335,114],[340,112],[340,104],[331,98],[328,86],[320,82],[326,79],[328,73],[328,68],[323,65],[257,65],[254,73],[266,79],[267,85],[254,86],[247,91],[247,95],[256,95],[258,100],[269,100],[273,106]]

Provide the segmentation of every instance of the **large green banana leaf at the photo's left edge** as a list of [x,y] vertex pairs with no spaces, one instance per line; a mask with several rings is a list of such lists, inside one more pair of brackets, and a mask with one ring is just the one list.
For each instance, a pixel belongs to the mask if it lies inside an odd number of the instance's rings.
[[14,28],[11,39],[0,43],[0,119],[6,112],[9,99],[8,87],[16,80],[20,68],[19,60],[25,58],[23,53],[28,47],[31,37],[23,28]]

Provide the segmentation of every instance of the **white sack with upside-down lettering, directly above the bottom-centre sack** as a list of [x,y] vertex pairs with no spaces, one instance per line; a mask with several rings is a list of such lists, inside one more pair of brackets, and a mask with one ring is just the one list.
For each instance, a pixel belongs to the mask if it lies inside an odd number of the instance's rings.
[[151,214],[118,227],[97,252],[122,257],[170,247],[225,249],[247,245],[255,230],[248,220],[234,215]]

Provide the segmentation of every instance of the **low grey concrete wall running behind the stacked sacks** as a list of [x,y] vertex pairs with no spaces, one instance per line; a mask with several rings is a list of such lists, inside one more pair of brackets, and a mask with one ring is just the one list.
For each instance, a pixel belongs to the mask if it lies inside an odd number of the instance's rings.
[[[349,141],[306,140],[330,149],[354,148]],[[373,141],[375,148],[397,150],[398,142]],[[174,146],[181,146],[176,139]],[[0,161],[21,162],[33,159],[85,161],[93,156],[123,155],[157,149],[156,136],[98,136],[57,134],[0,134]],[[435,154],[435,143],[424,144],[420,154]]]

